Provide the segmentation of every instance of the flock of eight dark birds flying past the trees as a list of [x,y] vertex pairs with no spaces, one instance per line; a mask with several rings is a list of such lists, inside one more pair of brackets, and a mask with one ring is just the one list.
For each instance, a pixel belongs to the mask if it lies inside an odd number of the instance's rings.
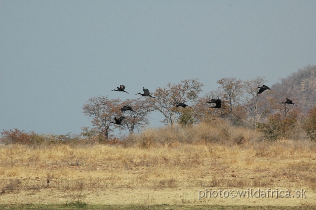
[[[262,85],[261,87],[258,87],[258,88],[260,88],[259,89],[259,91],[258,91],[258,94],[261,94],[263,91],[265,91],[265,90],[267,90],[267,89],[269,89],[269,90],[272,90],[272,89],[270,89],[270,87],[268,87],[267,85]],[[125,86],[124,85],[119,85],[119,87],[117,87],[117,89],[114,89],[114,90],[112,90],[112,91],[119,91],[119,92],[126,92],[125,91]],[[150,92],[149,92],[149,90],[147,89],[147,88],[144,88],[143,87],[143,91],[144,91],[144,93],[142,94],[142,93],[136,93],[136,95],[137,94],[140,94],[140,95],[142,95],[142,96],[147,96],[147,97],[152,97],[152,98],[156,98],[156,97],[154,97],[154,96],[152,96],[152,95],[150,95]],[[128,93],[128,92],[126,92],[126,93]],[[128,93],[129,94],[129,93]],[[206,103],[215,103],[215,106],[211,106],[211,108],[217,108],[217,109],[225,109],[225,108],[223,108],[222,107],[222,100],[221,99],[214,99],[214,98],[212,98],[210,101],[208,101],[208,102],[206,102]],[[286,98],[286,101],[285,102],[281,102],[282,104],[293,104],[293,105],[295,105],[294,103],[293,103],[293,101],[292,100],[290,100],[290,99],[288,99],[288,98]],[[186,108],[186,107],[190,107],[190,106],[188,106],[187,104],[185,104],[185,103],[178,103],[175,107],[179,107],[179,106],[181,106],[181,107],[183,107],[183,108]],[[297,105],[295,105],[295,106],[297,106]],[[130,106],[123,106],[123,108],[121,108],[120,109],[121,110],[121,112],[125,112],[125,111],[132,111],[133,112],[133,108],[132,107],[130,107]],[[114,118],[114,120],[115,120],[115,122],[111,122],[111,123],[114,123],[114,124],[117,124],[117,125],[122,125],[121,123],[122,123],[122,121],[125,119],[125,117],[124,116],[121,116],[121,117],[119,117],[118,119],[115,117]]]

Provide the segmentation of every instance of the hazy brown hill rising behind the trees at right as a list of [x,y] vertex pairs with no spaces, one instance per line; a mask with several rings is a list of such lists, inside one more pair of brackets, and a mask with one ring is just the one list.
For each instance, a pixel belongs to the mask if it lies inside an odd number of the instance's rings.
[[302,114],[307,114],[316,106],[316,65],[299,69],[271,89],[295,99],[293,102],[301,107]]

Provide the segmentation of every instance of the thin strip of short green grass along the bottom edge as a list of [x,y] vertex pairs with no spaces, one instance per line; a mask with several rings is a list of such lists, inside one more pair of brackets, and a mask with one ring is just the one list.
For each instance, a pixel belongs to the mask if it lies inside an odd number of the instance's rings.
[[221,205],[87,205],[82,202],[69,204],[0,204],[1,210],[315,210],[316,206],[221,206]]

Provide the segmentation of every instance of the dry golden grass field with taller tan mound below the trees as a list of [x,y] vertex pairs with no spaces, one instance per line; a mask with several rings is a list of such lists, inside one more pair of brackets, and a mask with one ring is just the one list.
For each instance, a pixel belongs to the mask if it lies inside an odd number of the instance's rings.
[[209,124],[148,129],[123,145],[0,145],[0,203],[65,203],[80,197],[100,204],[200,204],[198,190],[205,187],[302,187],[306,199],[202,203],[315,204],[315,159],[310,141],[268,142],[252,130]]

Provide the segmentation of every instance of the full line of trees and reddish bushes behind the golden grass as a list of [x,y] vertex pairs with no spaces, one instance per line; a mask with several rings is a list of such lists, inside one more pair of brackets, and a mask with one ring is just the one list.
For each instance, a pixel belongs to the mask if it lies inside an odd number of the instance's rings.
[[[121,100],[108,96],[90,97],[83,104],[83,114],[91,119],[92,128],[82,127],[80,134],[71,135],[44,135],[34,131],[3,130],[0,142],[39,144],[88,142],[111,140],[118,142],[113,136],[114,129],[128,130],[130,133],[140,130],[149,124],[150,114],[158,111],[164,117],[161,123],[165,125],[180,124],[191,126],[200,122],[216,122],[218,119],[229,122],[232,126],[243,126],[257,129],[269,140],[289,137],[293,133],[304,132],[312,141],[316,141],[316,106],[312,107],[304,116],[300,104],[308,101],[298,101],[295,95],[286,91],[264,91],[258,94],[258,87],[267,83],[265,77],[256,77],[242,81],[236,78],[223,78],[217,81],[216,90],[201,95],[202,83],[198,79],[181,81],[179,84],[166,84],[158,87],[152,97]],[[210,108],[211,99],[220,98],[223,109]],[[282,104],[286,98],[291,98],[298,106]],[[186,103],[190,107],[175,107],[178,103]],[[132,107],[133,111],[121,109],[124,106]],[[115,117],[124,116],[122,126],[113,124]],[[299,127],[299,129],[296,129]],[[293,129],[295,128],[295,129]],[[83,138],[82,138],[82,137]],[[114,140],[114,141],[113,141]]]

